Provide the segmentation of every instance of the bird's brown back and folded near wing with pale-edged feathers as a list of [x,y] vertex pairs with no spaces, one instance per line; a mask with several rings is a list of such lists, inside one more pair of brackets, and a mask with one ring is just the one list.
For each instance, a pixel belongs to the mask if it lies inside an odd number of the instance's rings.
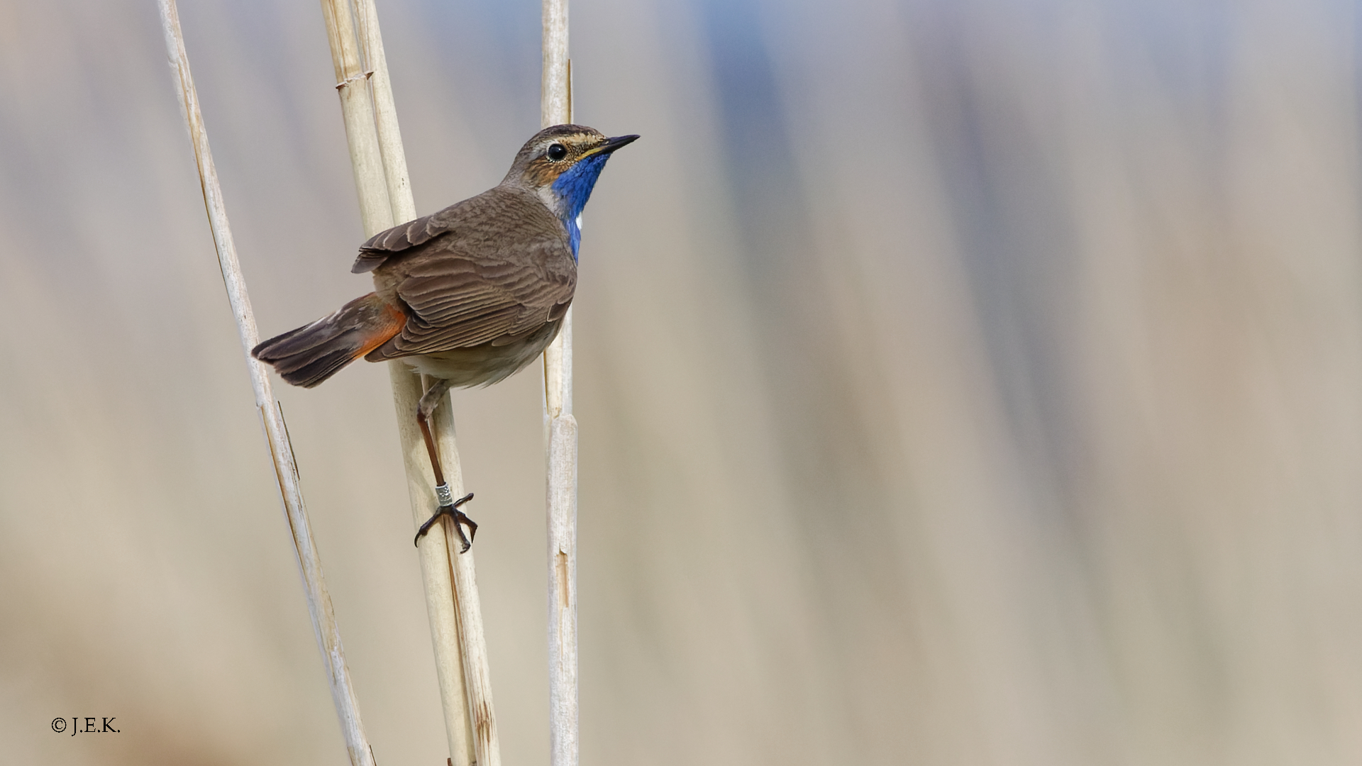
[[403,245],[407,252],[398,259],[385,256],[391,260],[376,277],[391,285],[409,319],[366,358],[504,345],[567,311],[576,263],[558,219],[535,198],[488,192],[466,200],[474,202],[441,211],[456,213],[444,232],[452,236]]

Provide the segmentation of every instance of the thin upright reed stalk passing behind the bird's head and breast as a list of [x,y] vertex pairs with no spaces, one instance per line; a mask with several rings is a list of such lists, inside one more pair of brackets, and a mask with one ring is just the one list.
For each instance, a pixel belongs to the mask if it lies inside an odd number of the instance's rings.
[[[572,121],[568,1],[543,0],[542,127]],[[577,421],[572,416],[572,309],[543,352],[549,527],[549,763],[577,766]]]

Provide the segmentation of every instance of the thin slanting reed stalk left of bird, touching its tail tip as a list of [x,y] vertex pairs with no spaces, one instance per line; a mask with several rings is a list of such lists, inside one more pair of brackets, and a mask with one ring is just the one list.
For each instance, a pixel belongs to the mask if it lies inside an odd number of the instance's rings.
[[203,113],[199,110],[199,93],[195,90],[193,78],[189,74],[189,56],[185,52],[184,34],[180,30],[180,14],[174,0],[159,0],[159,5],[166,52],[170,56],[170,65],[178,86],[180,108],[184,112],[185,125],[189,128],[189,140],[193,143],[193,155],[199,166],[199,184],[203,188],[203,203],[208,213],[208,228],[212,230],[212,241],[218,251],[218,266],[222,269],[227,301],[232,304],[237,333],[241,335],[247,371],[251,375],[251,388],[255,391],[256,410],[260,413],[266,442],[270,446],[270,457],[279,480],[283,512],[289,521],[294,552],[298,555],[298,570],[302,574],[302,589],[308,598],[312,630],[317,637],[317,649],[327,667],[331,699],[335,702],[336,716],[340,718],[340,732],[345,736],[350,763],[353,766],[373,766],[373,751],[369,748],[364,725],[360,721],[360,705],[354,695],[354,684],[350,681],[350,669],[345,662],[345,647],[340,645],[340,631],[331,608],[331,596],[321,574],[321,559],[312,541],[312,527],[302,503],[302,489],[298,487],[298,469],[283,424],[283,412],[274,398],[264,365],[251,357],[251,349],[260,342],[260,333],[256,330],[251,297],[247,294],[241,264],[237,262],[232,226],[227,224],[227,210],[222,200],[222,188],[218,185],[218,172],[212,164],[212,151],[208,149],[208,132],[203,125]]

